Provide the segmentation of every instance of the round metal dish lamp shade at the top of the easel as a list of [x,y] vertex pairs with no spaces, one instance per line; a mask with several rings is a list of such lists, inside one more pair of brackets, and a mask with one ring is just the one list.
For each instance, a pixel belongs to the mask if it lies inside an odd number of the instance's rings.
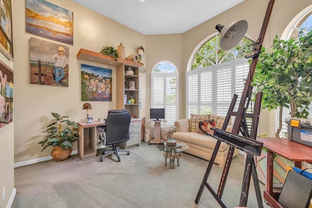
[[238,20],[227,26],[217,25],[216,29],[220,32],[220,47],[224,51],[232,49],[245,36],[248,28],[246,20]]

